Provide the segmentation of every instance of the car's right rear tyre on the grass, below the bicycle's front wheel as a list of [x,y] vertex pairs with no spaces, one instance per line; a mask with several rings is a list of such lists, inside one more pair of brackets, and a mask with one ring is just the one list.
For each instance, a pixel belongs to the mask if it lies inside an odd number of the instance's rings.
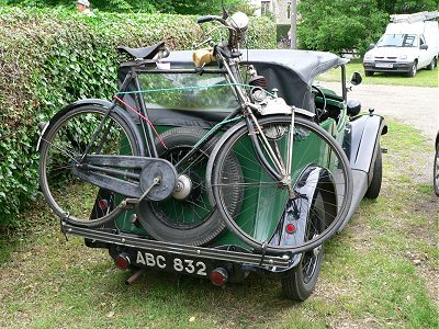
[[[324,200],[318,193],[313,202],[309,211],[309,222],[318,226],[318,230],[308,231],[308,238],[312,239],[314,234],[319,234],[325,229],[325,211]],[[318,218],[318,219],[317,219]],[[313,226],[317,228],[317,226]],[[304,302],[314,292],[320,273],[322,262],[324,258],[323,245],[313,250],[308,250],[301,256],[297,266],[289,270],[281,279],[283,295],[296,302]]]

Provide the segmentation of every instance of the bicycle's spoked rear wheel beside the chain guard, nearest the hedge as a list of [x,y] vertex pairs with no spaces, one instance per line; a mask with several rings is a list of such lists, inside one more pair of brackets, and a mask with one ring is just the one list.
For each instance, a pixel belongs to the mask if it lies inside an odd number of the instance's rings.
[[[99,226],[122,211],[124,198],[79,179],[72,172],[90,144],[108,109],[83,105],[58,113],[42,137],[40,185],[55,214],[72,224]],[[88,155],[138,156],[139,148],[132,127],[111,112]]]

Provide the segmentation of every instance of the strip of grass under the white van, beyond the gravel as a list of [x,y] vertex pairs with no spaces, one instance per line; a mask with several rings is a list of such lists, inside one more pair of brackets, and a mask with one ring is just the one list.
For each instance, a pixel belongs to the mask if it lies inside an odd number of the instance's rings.
[[[393,84],[393,86],[412,86],[412,87],[430,87],[438,88],[439,69],[419,70],[414,78],[408,78],[404,73],[384,73],[376,72],[372,77],[364,76],[364,69],[361,63],[352,61],[347,65],[347,78],[349,79],[352,72],[361,72],[363,82],[367,84]],[[340,69],[329,70],[318,77],[322,81],[340,81]]]

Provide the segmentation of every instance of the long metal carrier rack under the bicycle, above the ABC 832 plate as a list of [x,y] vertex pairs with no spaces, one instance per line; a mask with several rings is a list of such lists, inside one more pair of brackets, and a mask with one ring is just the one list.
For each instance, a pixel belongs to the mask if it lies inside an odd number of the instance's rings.
[[156,252],[166,252],[172,254],[184,254],[188,257],[203,258],[218,261],[236,262],[246,265],[270,266],[270,268],[290,268],[295,260],[294,256],[284,254],[264,256],[250,252],[230,251],[218,248],[206,248],[177,245],[165,241],[149,240],[123,232],[111,232],[102,228],[83,228],[70,225],[61,220],[61,231],[66,235],[80,236],[91,239],[92,242],[105,242],[124,247],[138,248]]

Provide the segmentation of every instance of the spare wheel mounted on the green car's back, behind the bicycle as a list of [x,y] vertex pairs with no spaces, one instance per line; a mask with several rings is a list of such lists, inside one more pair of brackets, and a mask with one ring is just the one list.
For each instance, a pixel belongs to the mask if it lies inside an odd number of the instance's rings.
[[[159,157],[176,164],[205,134],[206,131],[192,127],[169,129],[160,135],[167,148],[156,141]],[[143,202],[138,205],[138,219],[153,238],[202,246],[216,238],[225,228],[222,215],[211,206],[205,185],[209,157],[217,140],[215,137],[211,139],[199,154],[177,168],[180,188],[189,193],[184,198],[175,193],[167,201]],[[227,166],[232,174],[240,175],[236,159],[227,159]],[[235,188],[228,192],[227,201],[236,211],[239,207],[239,190]]]

